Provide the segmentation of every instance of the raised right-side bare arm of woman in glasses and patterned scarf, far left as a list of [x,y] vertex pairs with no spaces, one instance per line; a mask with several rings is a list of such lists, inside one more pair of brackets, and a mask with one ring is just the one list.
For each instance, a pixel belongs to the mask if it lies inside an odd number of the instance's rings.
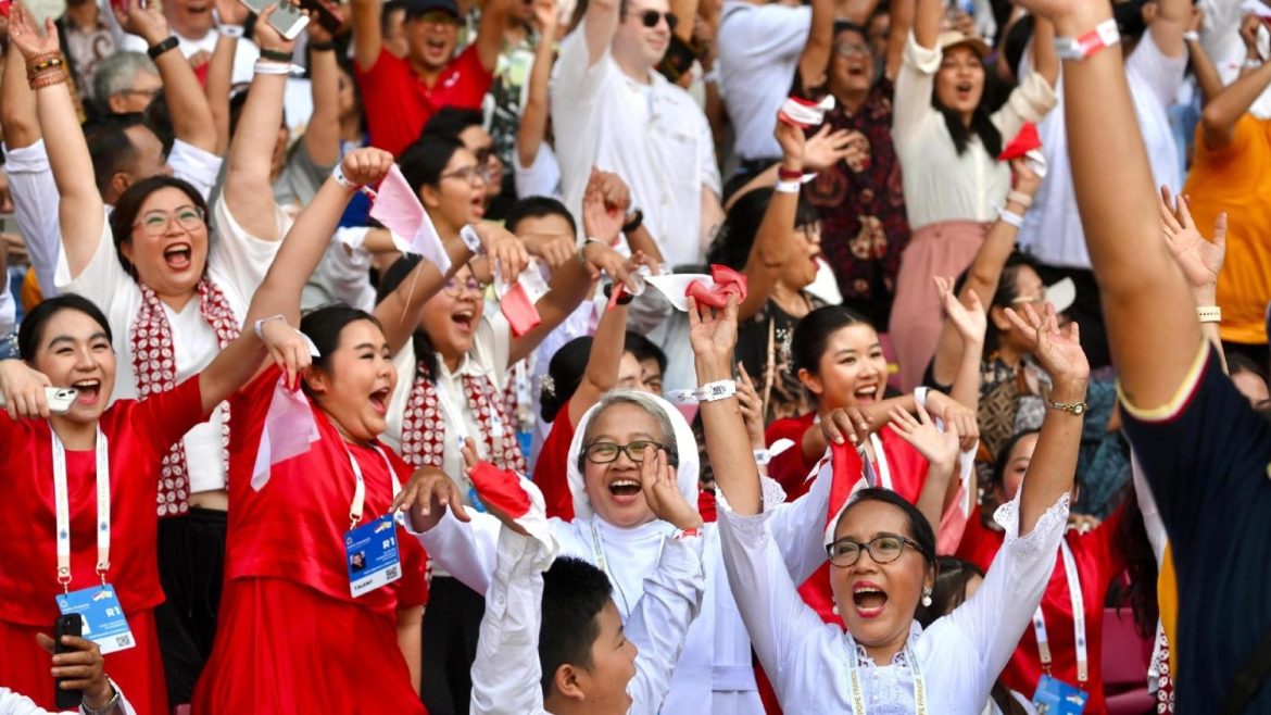
[[[271,5],[257,18],[255,41],[262,52],[291,56],[292,42],[269,27]],[[230,139],[230,155],[225,174],[225,207],[249,235],[261,240],[278,240],[277,206],[273,202],[273,149],[282,126],[282,95],[287,88],[290,62],[262,61],[281,74],[257,71],[243,104],[243,115]],[[329,235],[329,234],[328,234]],[[305,274],[308,275],[308,274]]]

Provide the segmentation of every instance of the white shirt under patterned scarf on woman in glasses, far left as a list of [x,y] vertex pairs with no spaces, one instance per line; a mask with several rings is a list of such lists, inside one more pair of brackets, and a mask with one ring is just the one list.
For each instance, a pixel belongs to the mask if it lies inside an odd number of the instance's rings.
[[[212,206],[212,225],[207,248],[207,277],[225,294],[225,299],[241,327],[247,319],[248,304],[255,289],[264,281],[264,274],[273,263],[282,242],[262,240],[248,234],[234,220],[225,198]],[[289,221],[281,211],[277,212],[278,233],[286,234]],[[67,293],[78,293],[105,313],[114,333],[116,379],[114,399],[136,399],[137,378],[132,369],[131,327],[141,308],[141,289],[130,276],[116,253],[109,223],[102,228],[97,252],[89,265],[79,275],[71,277],[65,251],[57,261],[57,288]],[[172,328],[173,347],[177,352],[177,383],[203,370],[220,352],[216,331],[200,312],[198,296],[193,296],[178,313],[163,304],[164,314]],[[221,443],[221,425],[225,422],[224,405],[217,406],[211,419],[186,433],[182,440],[186,448],[186,464],[189,476],[189,491],[214,491],[225,489],[225,457]]]

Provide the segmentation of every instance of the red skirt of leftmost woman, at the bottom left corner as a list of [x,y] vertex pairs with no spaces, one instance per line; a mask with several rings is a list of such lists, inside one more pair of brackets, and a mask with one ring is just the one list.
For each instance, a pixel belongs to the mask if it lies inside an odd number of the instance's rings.
[[[146,509],[150,511],[150,509]],[[154,514],[150,515],[154,519]],[[113,553],[113,551],[112,551]],[[116,584],[118,585],[118,584]],[[117,590],[122,590],[118,589]],[[48,597],[52,603],[53,598]],[[127,612],[128,627],[137,645],[105,656],[105,672],[128,696],[128,702],[140,715],[168,712],[168,687],[164,683],[163,656],[159,654],[159,635],[155,632],[154,609]],[[0,621],[0,686],[36,701],[36,705],[57,711],[53,702],[53,667],[48,655],[36,642],[36,634],[53,635],[53,621],[43,626],[25,626]]]

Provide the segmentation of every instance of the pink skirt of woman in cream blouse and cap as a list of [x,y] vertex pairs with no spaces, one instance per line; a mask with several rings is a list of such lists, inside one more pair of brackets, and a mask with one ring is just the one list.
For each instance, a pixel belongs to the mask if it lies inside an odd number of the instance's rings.
[[965,271],[984,243],[985,233],[988,225],[977,221],[929,224],[913,233],[900,254],[888,332],[900,364],[901,389],[918,387],[935,356],[944,312],[932,279],[953,279]]

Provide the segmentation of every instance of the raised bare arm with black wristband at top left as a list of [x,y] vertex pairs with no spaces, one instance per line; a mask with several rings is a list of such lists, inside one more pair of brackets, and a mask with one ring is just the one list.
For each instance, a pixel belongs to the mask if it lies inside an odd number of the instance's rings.
[[[142,5],[139,0],[128,0],[127,11],[114,9],[119,27],[140,36],[146,45],[154,47],[173,37],[168,20],[163,17],[159,4]],[[177,139],[197,146],[203,151],[216,151],[216,122],[203,88],[194,76],[194,67],[175,47],[155,57],[159,76],[163,78],[163,93],[172,116],[172,128]]]

